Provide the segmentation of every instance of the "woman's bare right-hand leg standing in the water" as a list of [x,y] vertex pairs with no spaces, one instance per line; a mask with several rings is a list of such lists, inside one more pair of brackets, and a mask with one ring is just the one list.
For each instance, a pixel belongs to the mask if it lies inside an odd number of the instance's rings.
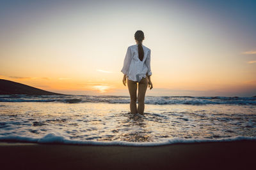
[[148,78],[142,78],[139,82],[139,90],[138,90],[138,113],[143,115],[144,113],[144,101],[145,101],[145,94],[147,91],[148,86]]

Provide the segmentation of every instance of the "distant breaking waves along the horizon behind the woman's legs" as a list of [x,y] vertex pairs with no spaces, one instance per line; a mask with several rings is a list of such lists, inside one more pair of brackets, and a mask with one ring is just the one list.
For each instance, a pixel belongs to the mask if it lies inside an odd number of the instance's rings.
[[[0,95],[0,102],[130,103],[129,96]],[[256,105],[256,97],[146,96],[146,104],[239,104]]]

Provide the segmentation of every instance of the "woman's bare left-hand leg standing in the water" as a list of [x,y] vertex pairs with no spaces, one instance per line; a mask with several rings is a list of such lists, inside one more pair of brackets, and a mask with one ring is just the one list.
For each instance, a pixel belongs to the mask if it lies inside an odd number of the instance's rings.
[[137,83],[136,81],[127,80],[127,85],[130,93],[130,110],[132,114],[138,113],[136,101],[137,101]]

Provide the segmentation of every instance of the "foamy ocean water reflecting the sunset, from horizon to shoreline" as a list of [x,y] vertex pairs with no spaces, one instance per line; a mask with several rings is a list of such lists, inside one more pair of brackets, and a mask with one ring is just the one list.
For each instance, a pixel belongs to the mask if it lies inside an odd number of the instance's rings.
[[155,146],[256,140],[256,97],[0,95],[0,141]]

